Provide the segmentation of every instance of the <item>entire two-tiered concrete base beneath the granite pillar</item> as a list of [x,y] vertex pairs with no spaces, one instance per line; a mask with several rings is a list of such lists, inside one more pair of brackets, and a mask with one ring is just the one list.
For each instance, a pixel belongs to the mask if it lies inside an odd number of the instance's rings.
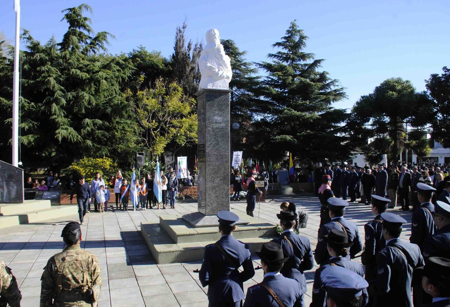
[[[252,254],[277,236],[272,223],[249,217],[242,211],[231,212],[248,221],[236,226],[233,235],[248,244]],[[217,226],[193,227],[181,215],[164,215],[159,219],[159,223],[141,223],[140,230],[158,264],[201,261],[205,246],[220,239]]]

